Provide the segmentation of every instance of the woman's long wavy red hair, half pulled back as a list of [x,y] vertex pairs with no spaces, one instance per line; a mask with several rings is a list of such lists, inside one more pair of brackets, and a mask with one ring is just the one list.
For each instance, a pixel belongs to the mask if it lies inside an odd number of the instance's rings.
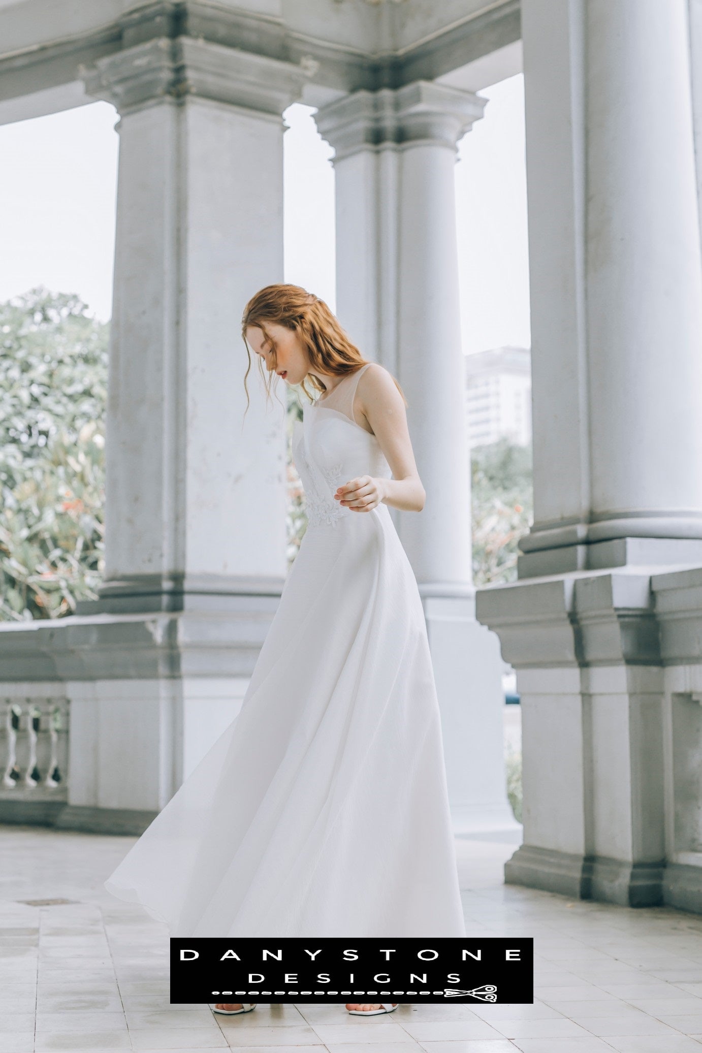
[[[273,323],[284,325],[298,334],[309,358],[310,370],[302,380],[300,388],[310,401],[314,401],[316,391],[318,394],[325,392],[324,383],[319,380],[314,371],[317,369],[321,373],[332,373],[336,376],[344,377],[349,373],[356,373],[368,359],[363,358],[361,352],[355,343],[348,339],[347,334],[339,324],[337,317],[329,311],[324,300],[320,300],[314,293],[308,293],[300,285],[266,285],[259,290],[250,298],[241,319],[241,336],[248,356],[248,367],[244,374],[244,391],[246,392],[246,409],[248,409],[248,388],[246,378],[252,367],[252,355],[246,340],[246,330],[249,325],[255,325],[262,331],[273,349],[275,364],[277,365],[276,343],[272,339],[266,324]],[[260,355],[259,372],[263,378],[266,396],[270,395],[272,375],[266,375],[263,361]],[[275,370],[272,371],[276,376]],[[393,377],[395,380],[395,377]],[[313,391],[307,389],[307,381]],[[404,399],[407,400],[404,392],[397,380],[395,384]]]

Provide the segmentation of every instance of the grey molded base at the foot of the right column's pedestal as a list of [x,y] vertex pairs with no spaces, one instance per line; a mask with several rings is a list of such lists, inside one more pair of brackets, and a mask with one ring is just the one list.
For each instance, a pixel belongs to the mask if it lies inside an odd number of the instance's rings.
[[[695,870],[696,868],[685,868]],[[506,885],[558,892],[620,907],[658,907],[663,899],[665,861],[633,863],[522,845],[504,865]],[[702,876],[702,874],[700,875]],[[699,886],[702,906],[702,882]]]

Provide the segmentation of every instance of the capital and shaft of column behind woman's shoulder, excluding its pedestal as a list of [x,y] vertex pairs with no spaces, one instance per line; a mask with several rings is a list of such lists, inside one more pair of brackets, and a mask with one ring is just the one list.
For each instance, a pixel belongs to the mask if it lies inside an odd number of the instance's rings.
[[455,163],[484,105],[418,81],[357,92],[316,118],[336,148],[339,316],[407,396],[426,504],[396,521],[418,581],[442,593],[472,581]]

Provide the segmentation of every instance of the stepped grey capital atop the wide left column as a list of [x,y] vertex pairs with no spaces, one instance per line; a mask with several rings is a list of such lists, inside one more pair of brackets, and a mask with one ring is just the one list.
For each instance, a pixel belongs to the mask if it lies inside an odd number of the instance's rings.
[[299,99],[315,63],[283,62],[192,37],[158,37],[82,66],[88,95],[120,114],[199,97],[280,117]]

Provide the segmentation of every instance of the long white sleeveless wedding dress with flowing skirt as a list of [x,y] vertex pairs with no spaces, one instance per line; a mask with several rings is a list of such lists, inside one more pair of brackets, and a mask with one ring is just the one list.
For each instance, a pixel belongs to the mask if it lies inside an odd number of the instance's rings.
[[104,882],[172,936],[464,936],[422,603],[357,423],[362,370],[294,433],[308,526],[241,710]]

